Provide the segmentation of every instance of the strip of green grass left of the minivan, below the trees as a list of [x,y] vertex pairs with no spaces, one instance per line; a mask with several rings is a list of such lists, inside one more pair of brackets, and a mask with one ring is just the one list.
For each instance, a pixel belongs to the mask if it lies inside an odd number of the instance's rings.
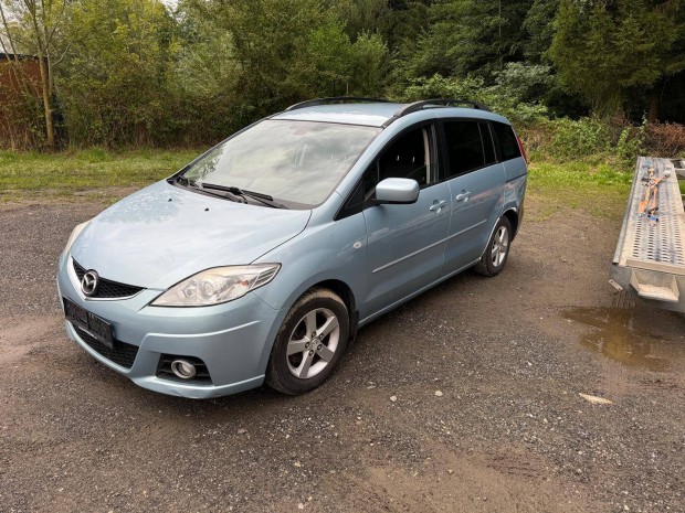
[[62,153],[0,151],[0,201],[67,197],[110,188],[141,188],[178,171],[200,150],[101,148]]

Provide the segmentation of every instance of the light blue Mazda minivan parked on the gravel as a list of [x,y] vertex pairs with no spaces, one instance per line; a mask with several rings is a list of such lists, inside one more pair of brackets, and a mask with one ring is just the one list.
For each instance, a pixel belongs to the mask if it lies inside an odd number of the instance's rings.
[[294,105],[76,226],[66,332],[165,394],[307,392],[359,327],[470,267],[498,274],[526,178],[479,104]]

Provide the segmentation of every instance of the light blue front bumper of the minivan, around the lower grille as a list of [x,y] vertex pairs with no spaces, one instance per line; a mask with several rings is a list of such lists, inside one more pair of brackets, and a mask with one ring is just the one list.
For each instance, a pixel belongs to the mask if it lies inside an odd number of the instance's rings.
[[[129,377],[137,385],[162,394],[208,398],[260,386],[271,346],[284,312],[274,310],[256,295],[213,307],[164,308],[149,302],[161,291],[146,289],[129,299],[88,300],[77,290],[71,258],[62,257],[57,272],[60,301],[68,298],[112,323],[117,342],[129,344],[129,367],[88,344],[83,332],[66,321],[66,333],[97,361]],[[122,346],[124,344],[120,344]],[[137,352],[136,352],[137,348]],[[200,359],[211,382],[160,377],[162,354]]]

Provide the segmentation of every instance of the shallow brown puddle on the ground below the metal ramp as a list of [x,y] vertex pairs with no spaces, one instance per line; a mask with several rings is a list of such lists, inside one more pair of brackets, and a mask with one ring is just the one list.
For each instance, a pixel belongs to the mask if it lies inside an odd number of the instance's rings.
[[566,319],[596,328],[580,340],[581,345],[621,362],[624,365],[667,371],[671,362],[662,353],[663,339],[637,327],[637,310],[623,308],[575,308],[563,313]]

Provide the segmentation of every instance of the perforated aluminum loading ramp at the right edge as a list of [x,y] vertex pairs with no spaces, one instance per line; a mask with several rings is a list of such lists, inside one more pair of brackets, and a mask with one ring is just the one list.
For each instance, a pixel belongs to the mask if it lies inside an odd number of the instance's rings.
[[[611,278],[620,290],[632,290],[662,308],[685,312],[685,210],[678,188],[679,164],[668,159],[637,159]],[[657,209],[653,215],[641,209],[647,196],[650,168],[654,180],[661,179],[655,185]]]

